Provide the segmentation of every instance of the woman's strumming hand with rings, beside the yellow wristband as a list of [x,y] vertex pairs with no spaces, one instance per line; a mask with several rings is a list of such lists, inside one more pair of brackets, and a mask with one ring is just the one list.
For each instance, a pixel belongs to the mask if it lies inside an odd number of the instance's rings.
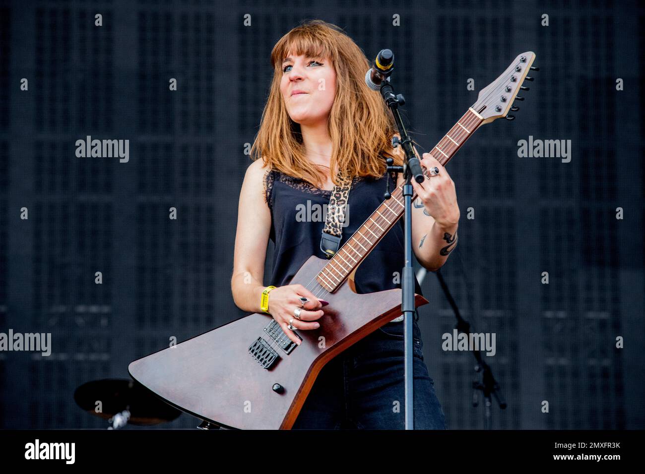
[[[309,299],[306,303],[301,301],[300,297],[304,296]],[[285,286],[278,286],[273,288],[269,293],[269,308],[268,312],[272,315],[273,319],[280,324],[284,333],[296,344],[300,345],[301,340],[297,337],[287,325],[293,319],[291,325],[297,330],[310,330],[320,327],[315,320],[324,315],[323,303],[316,298],[313,293],[301,284],[292,284]],[[302,308],[300,319],[295,317],[294,311],[296,308]],[[313,322],[310,322],[313,321]]]

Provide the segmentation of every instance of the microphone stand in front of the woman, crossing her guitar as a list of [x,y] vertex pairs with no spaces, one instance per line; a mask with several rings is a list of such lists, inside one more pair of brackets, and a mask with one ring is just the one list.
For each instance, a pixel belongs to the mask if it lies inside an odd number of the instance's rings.
[[[405,375],[405,429],[414,430],[414,367],[413,367],[413,344],[412,339],[412,318],[416,312],[416,307],[414,304],[414,267],[412,265],[412,195],[414,194],[414,188],[412,187],[412,177],[415,178],[417,183],[421,183],[424,180],[424,175],[421,172],[421,163],[419,158],[414,153],[412,148],[412,139],[408,135],[403,121],[401,120],[401,115],[399,114],[399,105],[405,103],[403,95],[394,94],[394,88],[390,83],[390,76],[383,79],[381,83],[381,89],[379,90],[385,101],[385,103],[392,110],[392,115],[399,128],[398,137],[393,137],[392,144],[397,146],[401,144],[405,152],[405,159],[403,166],[392,166],[393,159],[388,158],[386,161],[388,163],[388,171],[393,171],[395,173],[403,173],[405,183],[403,184],[403,197],[404,197],[404,256],[405,256],[405,266],[403,267],[401,287],[402,287],[402,304],[401,310],[403,313],[403,324],[404,324],[404,346],[403,350],[405,353],[404,356],[404,375]],[[389,181],[387,181],[389,183]],[[389,192],[386,192],[385,199],[390,199],[391,195]]]

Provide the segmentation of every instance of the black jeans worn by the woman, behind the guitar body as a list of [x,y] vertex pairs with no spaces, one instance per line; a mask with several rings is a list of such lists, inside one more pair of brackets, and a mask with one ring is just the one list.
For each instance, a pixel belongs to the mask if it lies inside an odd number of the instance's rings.
[[[404,322],[388,322],[337,355],[315,380],[293,430],[405,428]],[[446,417],[423,361],[413,321],[414,428],[445,430]]]

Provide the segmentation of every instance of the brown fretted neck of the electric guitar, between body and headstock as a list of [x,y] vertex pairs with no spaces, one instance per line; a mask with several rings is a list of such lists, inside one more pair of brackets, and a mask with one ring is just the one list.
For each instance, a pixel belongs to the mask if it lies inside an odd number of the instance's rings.
[[[430,150],[430,154],[445,166],[482,122],[481,115],[477,114],[473,108],[469,108],[466,114],[462,115],[461,119]],[[426,177],[430,177],[428,170],[424,169],[423,173]],[[417,193],[414,193],[412,200],[416,197]],[[333,293],[361,264],[382,237],[401,219],[404,208],[403,185],[401,184],[392,193],[392,197],[383,201],[352,237],[339,248],[338,252],[316,275],[316,281],[325,290]]]

